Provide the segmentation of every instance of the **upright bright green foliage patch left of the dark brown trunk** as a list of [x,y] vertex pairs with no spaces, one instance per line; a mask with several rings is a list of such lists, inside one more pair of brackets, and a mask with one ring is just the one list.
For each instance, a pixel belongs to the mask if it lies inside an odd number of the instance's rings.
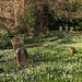
[[26,27],[34,27],[36,25],[36,14],[34,12],[34,8],[32,4],[27,4],[25,11],[25,26]]

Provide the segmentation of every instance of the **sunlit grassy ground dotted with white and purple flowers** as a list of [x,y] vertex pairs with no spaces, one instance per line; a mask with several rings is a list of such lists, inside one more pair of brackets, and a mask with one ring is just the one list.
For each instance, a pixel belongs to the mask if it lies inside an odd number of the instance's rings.
[[[44,37],[25,37],[28,65],[17,67],[8,35],[8,49],[0,50],[0,82],[82,82],[82,35],[51,32]],[[7,37],[5,37],[7,38]],[[75,54],[70,48],[77,49]]]

